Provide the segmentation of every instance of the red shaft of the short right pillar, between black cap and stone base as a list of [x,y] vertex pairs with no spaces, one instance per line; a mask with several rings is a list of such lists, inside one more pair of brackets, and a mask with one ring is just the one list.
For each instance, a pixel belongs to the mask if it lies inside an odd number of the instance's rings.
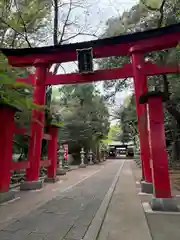
[[156,198],[170,198],[171,187],[168,172],[162,99],[161,97],[151,97],[148,99],[148,104],[154,195]]

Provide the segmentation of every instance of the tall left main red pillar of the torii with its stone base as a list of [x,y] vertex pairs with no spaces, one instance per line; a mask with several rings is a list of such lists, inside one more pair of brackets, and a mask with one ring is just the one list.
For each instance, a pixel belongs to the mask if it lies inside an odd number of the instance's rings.
[[[33,100],[34,103],[39,106],[45,105],[46,76],[47,67],[44,65],[37,67]],[[43,187],[43,181],[39,180],[43,134],[44,110],[33,109],[31,119],[30,144],[28,151],[28,161],[30,163],[30,168],[27,169],[26,181],[21,184],[21,190],[35,190]]]

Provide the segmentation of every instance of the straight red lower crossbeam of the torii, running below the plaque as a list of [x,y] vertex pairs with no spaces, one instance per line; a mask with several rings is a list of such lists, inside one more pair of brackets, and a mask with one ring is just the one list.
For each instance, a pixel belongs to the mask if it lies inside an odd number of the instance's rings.
[[[145,62],[143,66],[147,76],[161,75],[169,73],[180,72],[180,66],[158,66],[151,62]],[[105,70],[97,70],[90,74],[79,74],[79,73],[69,73],[69,74],[57,74],[53,75],[48,73],[45,85],[61,85],[61,84],[76,84],[76,83],[88,83],[96,81],[123,79],[128,77],[133,77],[132,64],[125,64],[121,68],[112,68]],[[17,78],[17,82],[25,82],[30,85],[35,84],[34,75],[30,75],[27,78]]]

